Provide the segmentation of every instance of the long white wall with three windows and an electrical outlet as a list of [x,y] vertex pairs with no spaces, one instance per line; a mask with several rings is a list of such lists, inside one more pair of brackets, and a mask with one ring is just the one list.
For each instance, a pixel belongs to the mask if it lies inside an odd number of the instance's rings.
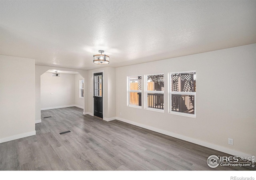
[[[189,70],[196,70],[196,118],[168,113],[168,73]],[[256,44],[116,68],[116,117],[230,154],[253,155],[255,71]],[[142,75],[144,81],[145,74],[154,73],[165,76],[164,113],[144,109],[145,87],[142,109],[128,107],[127,76]]]

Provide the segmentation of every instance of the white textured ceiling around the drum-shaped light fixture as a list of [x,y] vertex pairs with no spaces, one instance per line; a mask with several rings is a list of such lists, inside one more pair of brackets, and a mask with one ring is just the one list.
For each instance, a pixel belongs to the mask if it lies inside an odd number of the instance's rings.
[[[119,67],[256,43],[256,1],[0,1],[0,54]],[[105,50],[110,64],[93,64]]]

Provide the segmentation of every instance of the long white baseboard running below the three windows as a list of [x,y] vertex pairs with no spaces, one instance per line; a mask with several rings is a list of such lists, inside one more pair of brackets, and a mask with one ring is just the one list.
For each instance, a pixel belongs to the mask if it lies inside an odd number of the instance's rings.
[[[201,145],[201,146],[204,146],[204,147],[207,147],[207,148],[211,148],[211,149],[214,149],[214,150],[217,150],[217,151],[220,151],[220,152],[231,154],[233,156],[238,156],[238,157],[243,157],[243,158],[248,158],[248,157],[252,156],[251,154],[246,154],[244,152],[232,150],[232,149],[229,149],[229,148],[225,148],[223,146],[218,146],[216,144],[211,144],[211,143],[204,142],[204,141],[201,141],[201,140],[198,140],[198,139],[194,139],[194,138],[190,138],[190,137],[183,136],[183,135],[180,135],[180,134],[172,133],[172,132],[169,132],[169,131],[166,131],[166,130],[154,128],[152,126],[148,126],[148,125],[145,125],[145,124],[140,124],[138,122],[126,120],[126,119],[123,119],[123,118],[116,117],[116,120],[120,120],[122,122],[133,124],[133,125],[139,126],[141,128],[145,128],[145,129],[148,129],[148,130],[159,132],[159,133],[165,134],[167,136],[172,136],[174,138],[178,138],[178,139],[181,139],[181,140],[192,142],[194,144],[198,144],[198,145]],[[212,155],[217,155],[217,154],[212,154]]]

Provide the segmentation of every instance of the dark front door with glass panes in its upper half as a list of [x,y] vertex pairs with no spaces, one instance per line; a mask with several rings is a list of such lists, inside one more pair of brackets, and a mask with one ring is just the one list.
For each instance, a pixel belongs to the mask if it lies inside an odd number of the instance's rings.
[[94,74],[94,116],[103,118],[102,72]]

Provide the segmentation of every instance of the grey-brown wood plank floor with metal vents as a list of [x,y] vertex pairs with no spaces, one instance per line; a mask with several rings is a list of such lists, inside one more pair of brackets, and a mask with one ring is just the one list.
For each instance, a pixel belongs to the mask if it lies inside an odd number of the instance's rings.
[[0,170],[252,170],[210,168],[208,156],[230,155],[82,113],[76,107],[43,110],[35,136],[0,144]]

